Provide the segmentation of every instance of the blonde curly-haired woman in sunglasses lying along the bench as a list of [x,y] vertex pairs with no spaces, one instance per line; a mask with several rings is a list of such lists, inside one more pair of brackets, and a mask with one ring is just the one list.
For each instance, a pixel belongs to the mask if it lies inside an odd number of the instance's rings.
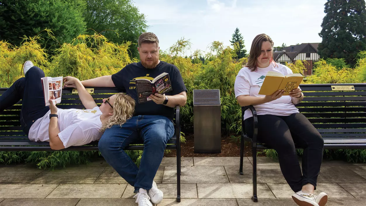
[[49,141],[53,150],[80,146],[99,140],[106,128],[122,125],[132,117],[135,100],[124,93],[103,99],[100,107],[75,77],[65,77],[65,86],[78,89],[79,98],[86,108],[60,109],[49,100],[45,106],[41,78],[44,72],[26,61],[25,77],[14,82],[0,96],[0,113],[22,99],[20,124],[28,138],[33,141]]

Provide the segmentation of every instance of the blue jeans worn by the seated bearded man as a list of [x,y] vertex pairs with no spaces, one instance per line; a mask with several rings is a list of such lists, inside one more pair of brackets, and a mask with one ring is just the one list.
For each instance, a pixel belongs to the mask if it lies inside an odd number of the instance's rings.
[[[122,128],[113,125],[110,129],[106,129],[99,140],[98,148],[108,164],[128,184],[135,187],[135,192],[140,188],[150,190],[163,160],[164,149],[173,134],[174,124],[168,117],[138,115],[128,119]],[[138,168],[124,148],[141,139],[145,148]]]

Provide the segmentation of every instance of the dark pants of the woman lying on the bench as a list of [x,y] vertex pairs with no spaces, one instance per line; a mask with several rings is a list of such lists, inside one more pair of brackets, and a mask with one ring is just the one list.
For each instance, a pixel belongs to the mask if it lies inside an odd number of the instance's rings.
[[45,77],[45,73],[40,68],[31,67],[25,77],[16,80],[0,96],[0,113],[22,99],[20,124],[27,135],[32,124],[49,111],[49,107],[45,106],[42,77]]

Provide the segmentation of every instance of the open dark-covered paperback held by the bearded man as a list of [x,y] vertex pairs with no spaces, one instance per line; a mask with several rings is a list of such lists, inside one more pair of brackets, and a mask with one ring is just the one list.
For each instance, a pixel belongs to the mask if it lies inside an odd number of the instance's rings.
[[169,74],[166,72],[155,77],[152,81],[147,79],[137,79],[135,80],[135,83],[138,103],[151,101],[152,99],[149,97],[151,94],[164,94],[166,92],[172,91],[172,84],[170,83]]

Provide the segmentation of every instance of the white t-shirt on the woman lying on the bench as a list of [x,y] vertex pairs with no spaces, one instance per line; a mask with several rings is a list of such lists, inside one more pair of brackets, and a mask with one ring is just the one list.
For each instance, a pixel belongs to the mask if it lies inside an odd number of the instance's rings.
[[[28,138],[33,141],[49,141],[48,111],[43,117],[37,119],[30,127]],[[59,137],[65,148],[70,146],[80,146],[91,141],[99,140],[102,133],[99,132],[102,127],[100,115],[102,112],[99,107],[89,110],[80,109],[57,109],[58,124],[60,128]]]

